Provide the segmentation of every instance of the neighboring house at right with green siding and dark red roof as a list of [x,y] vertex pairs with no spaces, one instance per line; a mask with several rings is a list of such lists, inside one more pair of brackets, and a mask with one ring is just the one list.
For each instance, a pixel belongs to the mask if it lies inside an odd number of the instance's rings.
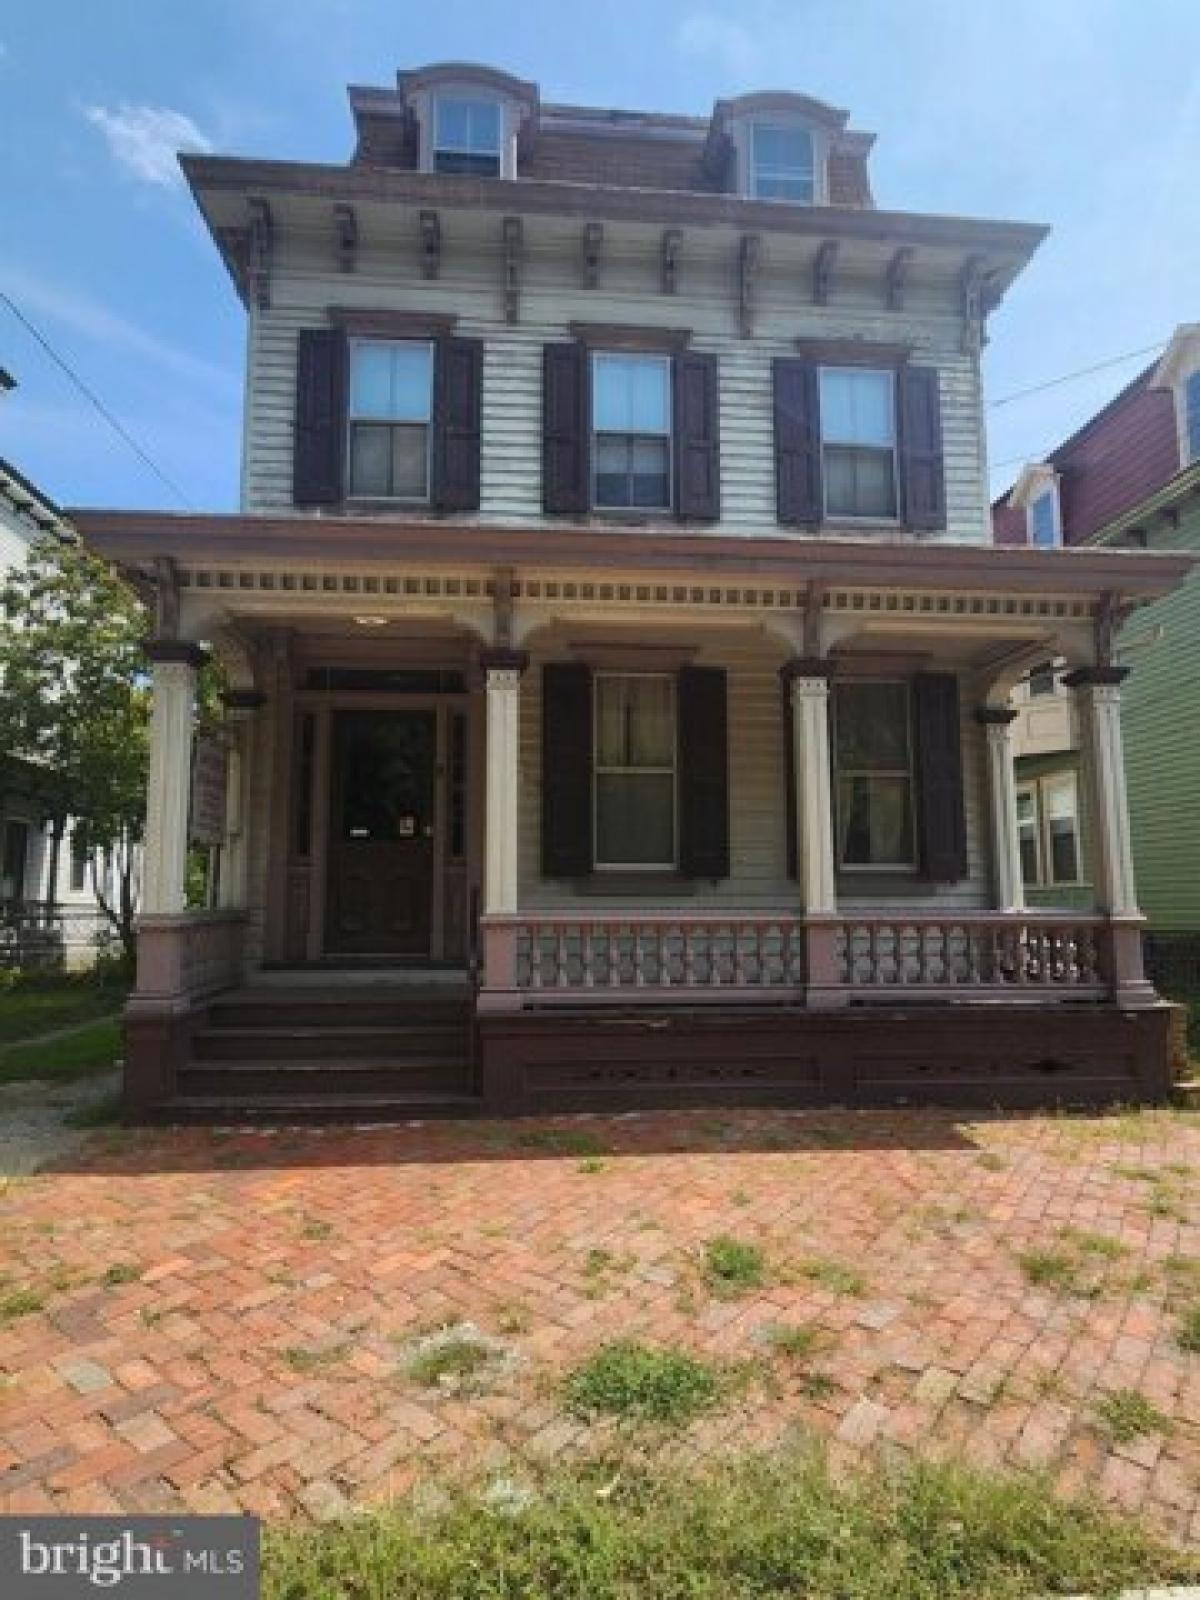
[[[1163,354],[994,507],[997,542],[1053,549],[1200,550],[1200,323],[1176,328]],[[1122,725],[1138,893],[1157,958],[1195,960],[1200,838],[1179,829],[1200,794],[1200,589],[1187,584],[1120,630],[1131,669]],[[1118,619],[1120,613],[1117,614]],[[1075,694],[1061,661],[1018,685],[1013,726],[1022,870],[1030,904],[1086,909],[1090,797]]]

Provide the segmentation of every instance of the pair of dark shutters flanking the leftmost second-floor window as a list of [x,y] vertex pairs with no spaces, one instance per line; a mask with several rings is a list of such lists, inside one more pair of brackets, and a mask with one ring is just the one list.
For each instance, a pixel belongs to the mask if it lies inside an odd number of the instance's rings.
[[[296,347],[293,501],[339,506],[346,498],[349,349],[341,328],[302,328]],[[437,510],[477,510],[483,411],[483,342],[442,338],[434,357]]]

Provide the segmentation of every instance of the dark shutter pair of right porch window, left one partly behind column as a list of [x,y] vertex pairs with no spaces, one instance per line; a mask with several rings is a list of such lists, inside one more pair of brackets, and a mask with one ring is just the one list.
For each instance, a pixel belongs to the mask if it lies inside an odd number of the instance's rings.
[[[800,877],[797,861],[795,730],[789,683],[782,683],[784,814],[787,877]],[[957,883],[966,877],[966,806],[963,802],[958,678],[952,672],[918,672],[912,680],[917,848],[922,877]],[[832,752],[832,741],[830,741]],[[837,771],[832,773],[837,784]]]

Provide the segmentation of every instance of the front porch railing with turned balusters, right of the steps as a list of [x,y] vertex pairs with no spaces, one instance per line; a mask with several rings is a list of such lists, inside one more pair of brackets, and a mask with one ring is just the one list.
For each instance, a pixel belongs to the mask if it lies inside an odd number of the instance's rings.
[[518,914],[482,918],[510,1003],[1104,998],[1109,923],[1043,912]]

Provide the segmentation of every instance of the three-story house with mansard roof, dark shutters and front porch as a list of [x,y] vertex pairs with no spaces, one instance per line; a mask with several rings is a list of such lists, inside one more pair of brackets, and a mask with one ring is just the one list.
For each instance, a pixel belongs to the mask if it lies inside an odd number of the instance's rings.
[[[157,595],[131,1114],[1163,1094],[1110,619],[1190,557],[992,544],[979,349],[1045,230],[877,208],[798,93],[456,62],[350,109],[342,165],[182,157],[246,307],[242,509],[72,514]],[[1086,912],[1022,894],[1051,654]]]

